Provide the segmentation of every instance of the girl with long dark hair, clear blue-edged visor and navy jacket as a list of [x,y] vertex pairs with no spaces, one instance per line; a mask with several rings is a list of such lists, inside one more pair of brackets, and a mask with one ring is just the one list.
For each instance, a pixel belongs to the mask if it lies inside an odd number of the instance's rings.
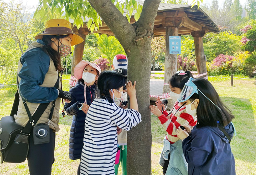
[[189,175],[235,175],[235,160],[230,141],[235,128],[234,115],[221,102],[213,85],[206,79],[190,78],[185,84],[179,102],[187,102],[187,111],[197,115],[197,125],[191,131],[179,127],[177,135],[182,142],[188,162]]

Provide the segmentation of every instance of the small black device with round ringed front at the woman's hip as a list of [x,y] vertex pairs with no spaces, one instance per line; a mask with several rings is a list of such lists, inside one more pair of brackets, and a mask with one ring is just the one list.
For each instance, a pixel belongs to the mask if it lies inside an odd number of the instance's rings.
[[48,125],[39,124],[33,129],[34,144],[39,145],[50,142],[50,128]]

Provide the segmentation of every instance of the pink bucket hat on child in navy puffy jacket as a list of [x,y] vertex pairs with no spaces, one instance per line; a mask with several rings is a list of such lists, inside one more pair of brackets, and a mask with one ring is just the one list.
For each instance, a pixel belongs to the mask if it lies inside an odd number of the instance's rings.
[[89,61],[82,60],[79,62],[75,68],[74,68],[74,76],[77,80],[81,79],[83,77],[83,71],[87,65],[92,66],[94,69],[99,71],[99,74],[101,73],[100,67],[95,63],[90,63]]

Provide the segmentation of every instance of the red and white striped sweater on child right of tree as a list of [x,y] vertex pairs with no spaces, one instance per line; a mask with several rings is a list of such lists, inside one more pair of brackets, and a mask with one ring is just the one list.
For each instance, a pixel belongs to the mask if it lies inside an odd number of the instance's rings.
[[179,140],[176,134],[176,131],[179,128],[179,126],[186,125],[192,130],[197,123],[197,117],[189,115],[187,113],[186,105],[180,108],[178,104],[179,102],[176,102],[174,104],[174,109],[172,110],[170,115],[168,115],[168,112],[164,110],[163,114],[158,117],[158,119],[161,121],[161,124],[163,125],[164,129],[167,132],[166,139],[171,144]]

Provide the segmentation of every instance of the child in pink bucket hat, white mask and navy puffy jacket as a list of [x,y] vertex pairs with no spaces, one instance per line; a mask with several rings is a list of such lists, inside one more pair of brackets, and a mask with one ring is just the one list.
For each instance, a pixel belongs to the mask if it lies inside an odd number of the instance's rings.
[[[96,81],[100,73],[99,66],[85,60],[79,62],[74,68],[74,76],[78,81],[69,90],[72,101],[65,104],[67,114],[73,115],[69,139],[69,158],[71,160],[81,159],[84,146],[85,117],[93,100],[99,97]],[[80,166],[78,174],[80,175]]]

